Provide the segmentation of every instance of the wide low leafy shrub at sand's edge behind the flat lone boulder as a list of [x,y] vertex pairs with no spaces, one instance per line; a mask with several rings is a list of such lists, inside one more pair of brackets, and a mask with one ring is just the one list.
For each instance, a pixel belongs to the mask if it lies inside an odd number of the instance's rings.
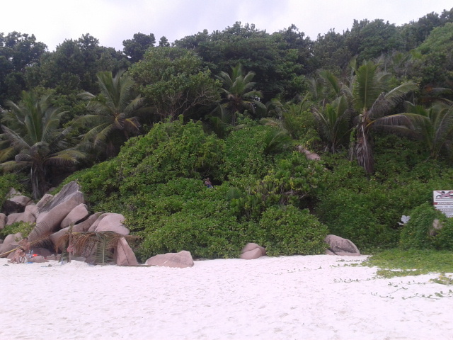
[[188,250],[202,258],[238,257],[253,232],[229,208],[229,189],[175,179],[142,198],[142,206],[127,215],[132,231],[143,237],[139,256]]

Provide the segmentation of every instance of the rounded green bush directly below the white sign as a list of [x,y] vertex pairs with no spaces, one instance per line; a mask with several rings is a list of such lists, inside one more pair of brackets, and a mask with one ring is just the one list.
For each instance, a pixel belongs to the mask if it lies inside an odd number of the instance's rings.
[[[423,203],[409,212],[411,219],[401,231],[401,249],[453,250],[453,219],[432,204]],[[433,221],[439,220],[442,229],[434,230]]]

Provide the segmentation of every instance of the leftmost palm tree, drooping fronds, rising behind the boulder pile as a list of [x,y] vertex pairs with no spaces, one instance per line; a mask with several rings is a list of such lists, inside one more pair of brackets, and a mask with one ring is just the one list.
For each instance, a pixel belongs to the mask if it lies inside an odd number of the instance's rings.
[[53,168],[72,166],[85,157],[69,144],[70,128],[59,128],[64,111],[53,108],[50,99],[23,91],[21,103],[8,101],[10,111],[1,112],[0,167],[4,171],[30,169],[34,199],[49,187],[47,176]]

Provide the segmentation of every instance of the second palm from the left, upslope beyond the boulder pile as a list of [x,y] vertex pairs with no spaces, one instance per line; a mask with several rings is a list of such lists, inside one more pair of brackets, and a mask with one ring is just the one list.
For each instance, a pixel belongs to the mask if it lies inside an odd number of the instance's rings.
[[[80,94],[88,101],[88,110],[93,114],[83,115],[76,123],[92,126],[84,135],[84,141],[91,141],[94,146],[102,145],[114,131],[122,131],[125,139],[130,134],[137,134],[141,125],[135,114],[142,108],[144,98],[134,95],[134,81],[118,72],[113,77],[112,72],[99,72],[99,96],[89,92]],[[113,147],[110,140],[110,148]]]

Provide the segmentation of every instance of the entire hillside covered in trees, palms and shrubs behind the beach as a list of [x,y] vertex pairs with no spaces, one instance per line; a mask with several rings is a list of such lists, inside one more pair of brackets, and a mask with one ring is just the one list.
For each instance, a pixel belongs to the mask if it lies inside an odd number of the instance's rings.
[[123,46],[0,33],[2,192],[77,180],[91,210],[125,215],[142,259],[319,254],[328,233],[453,250],[453,219],[429,237],[399,223],[452,188],[453,8],[316,40],[234,23]]

